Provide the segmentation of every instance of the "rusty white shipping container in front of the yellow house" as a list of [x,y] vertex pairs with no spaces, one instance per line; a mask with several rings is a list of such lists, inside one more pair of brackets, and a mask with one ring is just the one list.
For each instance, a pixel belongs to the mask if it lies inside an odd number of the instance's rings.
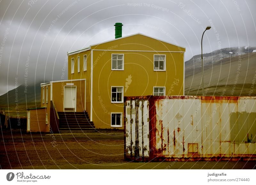
[[124,120],[127,160],[256,159],[256,97],[125,97]]

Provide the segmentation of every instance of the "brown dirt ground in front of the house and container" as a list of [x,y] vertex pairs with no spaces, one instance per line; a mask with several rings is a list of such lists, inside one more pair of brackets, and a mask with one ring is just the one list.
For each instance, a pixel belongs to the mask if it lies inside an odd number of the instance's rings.
[[255,169],[256,161],[138,163],[124,160],[123,133],[4,133],[1,169]]

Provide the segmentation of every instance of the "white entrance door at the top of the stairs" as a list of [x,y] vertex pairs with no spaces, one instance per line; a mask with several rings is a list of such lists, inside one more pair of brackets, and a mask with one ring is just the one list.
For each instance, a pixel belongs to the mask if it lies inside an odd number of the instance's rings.
[[64,86],[64,111],[76,112],[76,86]]

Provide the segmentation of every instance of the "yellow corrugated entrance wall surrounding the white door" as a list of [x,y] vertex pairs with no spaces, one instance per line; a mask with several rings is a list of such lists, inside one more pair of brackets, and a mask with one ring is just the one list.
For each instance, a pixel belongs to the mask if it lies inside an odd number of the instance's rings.
[[54,105],[56,106],[57,111],[63,112],[64,86],[66,86],[67,83],[73,83],[74,85],[72,85],[72,86],[76,86],[76,112],[82,112],[83,110],[85,110],[85,107],[84,107],[85,82],[84,82],[84,80],[53,82],[52,83],[52,101],[54,102]]

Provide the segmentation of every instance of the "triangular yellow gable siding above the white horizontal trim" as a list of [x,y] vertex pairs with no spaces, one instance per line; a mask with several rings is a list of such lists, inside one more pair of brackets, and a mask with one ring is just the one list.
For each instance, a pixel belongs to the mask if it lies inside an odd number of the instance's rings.
[[144,35],[132,35],[107,43],[92,46],[91,49],[136,50],[136,51],[184,51],[184,48],[168,44]]

